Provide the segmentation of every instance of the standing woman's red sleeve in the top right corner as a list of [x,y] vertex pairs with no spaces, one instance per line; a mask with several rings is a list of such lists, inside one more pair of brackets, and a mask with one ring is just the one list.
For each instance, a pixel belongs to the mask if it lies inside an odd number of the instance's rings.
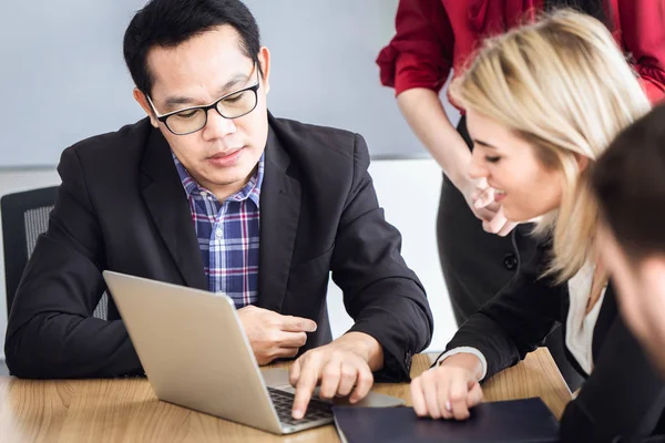
[[665,99],[665,0],[618,0],[624,49],[653,103]]

